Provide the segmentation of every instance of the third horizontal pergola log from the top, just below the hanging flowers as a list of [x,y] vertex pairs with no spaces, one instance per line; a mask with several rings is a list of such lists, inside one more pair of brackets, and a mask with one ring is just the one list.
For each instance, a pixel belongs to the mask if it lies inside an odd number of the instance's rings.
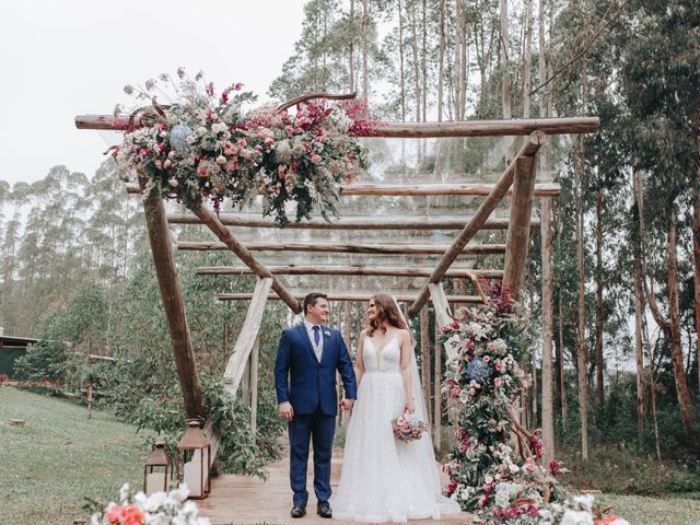
[[[167,220],[171,224],[202,223],[201,219],[191,213],[168,213]],[[219,213],[217,220],[226,226],[278,228],[271,219],[260,219],[253,213]],[[284,230],[462,230],[466,223],[470,223],[472,220],[474,218],[470,217],[450,217],[447,219],[430,217],[342,217],[330,221],[312,219],[291,222],[284,226]],[[508,230],[509,220],[488,219],[479,221],[479,224],[480,230]],[[539,219],[533,219],[530,225],[532,228],[539,228]]]

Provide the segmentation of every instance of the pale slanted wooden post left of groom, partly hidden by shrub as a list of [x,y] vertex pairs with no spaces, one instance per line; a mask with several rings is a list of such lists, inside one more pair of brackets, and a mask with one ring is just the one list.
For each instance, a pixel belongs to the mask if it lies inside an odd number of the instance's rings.
[[[232,397],[235,397],[237,394],[250,353],[258,338],[265,305],[271,288],[272,279],[259,279],[255,285],[255,291],[249,294],[252,301],[248,305],[248,312],[245,315],[245,320],[233,347],[231,358],[229,358],[229,362],[226,363],[226,370],[223,373],[224,377],[229,380],[223,389]],[[211,443],[211,460],[213,462],[213,458],[217,457],[219,443],[221,443],[221,436],[214,431],[211,419],[205,424],[205,433]]]

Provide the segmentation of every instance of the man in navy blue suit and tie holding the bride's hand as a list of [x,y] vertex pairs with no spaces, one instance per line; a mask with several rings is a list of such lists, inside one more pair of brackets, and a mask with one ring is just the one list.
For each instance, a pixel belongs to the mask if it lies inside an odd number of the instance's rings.
[[[275,362],[275,388],[280,417],[289,421],[290,472],[294,492],[292,517],[306,514],[306,464],[308,442],[314,443],[314,491],[322,517],[331,517],[330,456],[336,430],[338,397],[336,370],[340,372],[345,397],[340,402],[350,410],[357,383],[352,361],[338,330],[328,322],[328,301],[323,293],[304,298],[304,323],[282,330]],[[291,383],[291,386],[290,386]]]

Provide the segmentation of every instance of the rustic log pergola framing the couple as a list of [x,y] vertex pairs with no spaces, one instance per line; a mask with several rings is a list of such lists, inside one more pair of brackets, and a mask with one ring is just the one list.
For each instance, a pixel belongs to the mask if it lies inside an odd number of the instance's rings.
[[[126,124],[126,119],[115,119],[110,116],[84,115],[75,118],[75,125],[80,129],[119,130],[124,129]],[[550,135],[592,133],[596,132],[598,127],[597,117],[383,122],[377,127],[376,137],[405,139],[514,137],[513,140],[520,141],[520,148],[512,149],[515,153],[511,159],[506,159],[505,167],[500,173],[489,173],[478,177],[480,180],[488,179],[488,183],[475,180],[476,176],[472,178],[469,175],[459,174],[458,178],[467,182],[396,184],[387,175],[384,178],[388,178],[393,184],[385,184],[386,180],[382,184],[359,182],[346,186],[341,194],[341,199],[448,198],[452,206],[447,212],[436,207],[436,213],[423,210],[422,213],[377,217],[372,213],[358,214],[357,210],[349,208],[350,213],[341,213],[342,217],[329,222],[314,219],[292,223],[284,229],[284,238],[269,238],[273,235],[270,232],[281,234],[278,229],[275,229],[271,220],[261,218],[259,213],[221,212],[217,214],[202,205],[190,206],[186,213],[167,212],[160,196],[149,195],[143,203],[145,222],[187,416],[190,418],[201,416],[205,413],[205,407],[175,266],[171,224],[205,224],[215,236],[215,241],[178,242],[177,249],[230,250],[240,261],[236,266],[199,268],[198,273],[258,277],[253,291],[242,290],[219,294],[221,301],[249,301],[245,323],[225,370],[225,375],[231,380],[228,388],[235,394],[246,366],[253,370],[257,368],[258,331],[267,301],[281,300],[292,312],[296,314],[301,312],[300,299],[308,290],[292,289],[293,287],[289,285],[291,278],[314,276],[314,279],[320,279],[322,276],[327,276],[336,281],[341,280],[340,282],[345,283],[342,287],[329,290],[329,299],[334,301],[366,301],[371,296],[371,290],[362,290],[357,285],[357,281],[342,281],[343,279],[386,277],[394,280],[409,279],[412,283],[418,280],[418,285],[394,290],[393,293],[398,301],[406,304],[408,315],[420,315],[423,338],[429,337],[425,310],[429,301],[433,303],[436,322],[441,325],[451,322],[447,316],[451,303],[482,301],[478,294],[446,295],[442,288],[445,279],[476,280],[480,277],[502,279],[504,285],[515,293],[520,292],[523,288],[530,231],[534,228],[541,229],[544,259],[546,259],[544,277],[547,279],[547,271],[550,271],[548,268],[551,243],[551,199],[559,195],[560,187],[552,182],[536,183],[537,154]],[[140,194],[144,186],[145,180],[141,176],[140,184],[128,185],[127,190]],[[533,217],[535,197],[540,200],[539,218]],[[469,199],[469,206],[464,208],[470,208],[468,213],[465,213],[459,206],[459,202],[466,202],[466,199]],[[494,210],[509,201],[510,205],[503,217],[495,217]],[[506,232],[505,243],[477,242],[480,232],[483,236],[483,232],[489,231]],[[348,232],[349,240],[339,242],[337,238],[318,238],[316,235],[318,232]],[[358,240],[352,237],[353,232],[375,232],[376,237],[366,233],[362,240]],[[421,236],[413,234],[411,237],[407,232],[419,232]],[[435,232],[440,232],[439,241],[427,242],[425,240]],[[387,233],[394,235],[392,242],[376,241]],[[248,237],[247,241],[246,237]],[[372,242],[364,237],[369,237]],[[276,264],[265,260],[265,257],[273,260],[273,255],[279,259],[280,254],[287,260],[278,260]],[[332,259],[337,258],[342,264],[314,264],[313,257],[318,254],[324,256],[331,254]],[[355,259],[352,261],[341,259],[346,256],[354,256]],[[358,264],[357,258],[360,256],[366,258],[360,258],[362,262]],[[485,256],[490,256],[490,260],[500,258],[503,261],[502,266],[476,268],[475,260]],[[295,257],[301,259],[294,259]],[[388,258],[392,262],[369,262],[373,257]],[[459,265],[455,265],[457,260],[460,261]],[[462,264],[465,260],[469,266]],[[545,316],[551,313],[545,312]],[[431,380],[439,393],[442,363],[438,353],[434,375]],[[423,365],[422,373],[430,374],[430,370]],[[252,411],[255,413],[257,390],[255,373],[250,374],[250,383]],[[425,383],[424,387],[429,388],[431,381]],[[440,413],[441,409],[439,398],[440,396],[436,395],[434,407],[436,413]],[[215,455],[218,438],[213,434],[210,422],[206,425],[206,431],[212,440],[212,455]]]

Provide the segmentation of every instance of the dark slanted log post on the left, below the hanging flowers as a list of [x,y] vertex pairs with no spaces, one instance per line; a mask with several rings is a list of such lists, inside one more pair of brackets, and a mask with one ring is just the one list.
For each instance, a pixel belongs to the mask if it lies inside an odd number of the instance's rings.
[[[143,177],[141,177],[141,183],[145,184]],[[201,385],[197,374],[195,351],[189,336],[183,293],[177,279],[177,267],[175,266],[170,230],[165,220],[165,208],[158,191],[151,191],[145,199],[143,212],[145,214],[158,284],[163,299],[163,310],[175,354],[177,377],[183,389],[185,411],[188,418],[198,418],[205,413]]]

